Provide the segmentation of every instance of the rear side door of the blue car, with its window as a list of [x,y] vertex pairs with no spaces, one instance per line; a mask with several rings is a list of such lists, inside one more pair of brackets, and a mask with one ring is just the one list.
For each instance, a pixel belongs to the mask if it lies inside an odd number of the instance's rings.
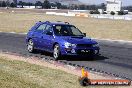
[[42,37],[43,37],[43,31],[46,28],[46,24],[40,24],[36,30],[34,30],[34,33],[32,35],[33,41],[35,43],[35,47],[38,49],[42,48]]

